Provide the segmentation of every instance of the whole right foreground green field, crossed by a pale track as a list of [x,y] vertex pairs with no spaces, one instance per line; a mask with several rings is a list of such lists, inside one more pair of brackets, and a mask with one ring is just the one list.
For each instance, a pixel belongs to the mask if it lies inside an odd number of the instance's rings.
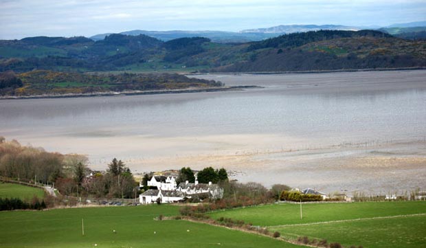
[[[304,204],[302,214],[301,220],[300,205],[276,204],[209,215],[267,226],[286,238],[308,236],[346,247],[424,247],[426,243],[426,201]],[[413,214],[421,215],[410,216]]]

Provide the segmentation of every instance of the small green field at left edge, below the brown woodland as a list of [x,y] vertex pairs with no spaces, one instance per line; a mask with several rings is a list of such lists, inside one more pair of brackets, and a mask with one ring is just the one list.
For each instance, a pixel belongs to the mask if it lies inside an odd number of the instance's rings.
[[45,191],[40,188],[33,188],[21,184],[0,183],[0,198],[19,198],[30,201],[34,195],[39,199],[43,199]]

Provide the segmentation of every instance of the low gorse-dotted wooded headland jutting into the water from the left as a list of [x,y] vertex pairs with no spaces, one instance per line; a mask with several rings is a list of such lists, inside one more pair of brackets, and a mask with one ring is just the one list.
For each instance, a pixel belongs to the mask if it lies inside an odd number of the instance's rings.
[[58,71],[0,73],[0,95],[63,95],[221,87],[221,82],[179,74],[80,74]]

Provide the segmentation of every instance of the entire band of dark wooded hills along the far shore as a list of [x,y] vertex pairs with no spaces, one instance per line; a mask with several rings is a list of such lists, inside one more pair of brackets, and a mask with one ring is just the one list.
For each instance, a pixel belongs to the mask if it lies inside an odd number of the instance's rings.
[[[408,35],[408,34],[407,34]],[[418,34],[416,34],[418,35]],[[426,66],[426,41],[373,31],[320,30],[251,43],[163,42],[140,34],[0,41],[0,71],[315,71]]]

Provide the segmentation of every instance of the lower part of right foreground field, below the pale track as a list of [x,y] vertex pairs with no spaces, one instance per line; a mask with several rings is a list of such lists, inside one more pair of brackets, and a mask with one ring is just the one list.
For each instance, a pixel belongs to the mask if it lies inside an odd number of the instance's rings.
[[422,247],[426,243],[426,216],[329,223],[320,225],[271,228],[287,238],[309,236],[326,238],[345,247],[363,245],[368,247]]

